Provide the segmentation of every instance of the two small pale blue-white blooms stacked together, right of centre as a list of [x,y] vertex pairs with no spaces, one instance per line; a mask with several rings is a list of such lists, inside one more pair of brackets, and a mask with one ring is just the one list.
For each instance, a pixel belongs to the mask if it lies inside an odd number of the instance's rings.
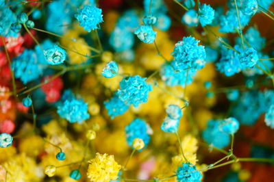
[[182,118],[181,108],[177,105],[169,105],[166,109],[166,118],[164,118],[164,122],[162,122],[161,129],[164,132],[174,133],[178,130],[179,127],[179,119]]

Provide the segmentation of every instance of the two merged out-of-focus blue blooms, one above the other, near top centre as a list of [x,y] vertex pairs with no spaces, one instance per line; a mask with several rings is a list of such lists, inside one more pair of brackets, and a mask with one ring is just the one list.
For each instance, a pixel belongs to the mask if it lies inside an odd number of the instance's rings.
[[121,16],[110,34],[110,45],[115,51],[127,51],[134,45],[132,31],[138,27],[138,16],[134,10],[128,10]]

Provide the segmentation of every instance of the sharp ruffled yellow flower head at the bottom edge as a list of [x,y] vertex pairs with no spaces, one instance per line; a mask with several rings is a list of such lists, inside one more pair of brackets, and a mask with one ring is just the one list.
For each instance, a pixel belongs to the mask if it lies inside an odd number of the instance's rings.
[[121,166],[114,161],[113,155],[96,153],[95,159],[88,161],[87,176],[90,181],[116,180]]

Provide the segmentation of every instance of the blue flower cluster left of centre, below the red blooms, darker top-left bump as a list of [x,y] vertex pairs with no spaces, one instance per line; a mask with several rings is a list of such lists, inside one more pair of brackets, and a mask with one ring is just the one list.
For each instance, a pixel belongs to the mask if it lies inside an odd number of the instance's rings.
[[82,99],[75,99],[73,93],[66,90],[62,95],[62,101],[58,103],[57,113],[69,122],[83,122],[90,118],[88,104]]

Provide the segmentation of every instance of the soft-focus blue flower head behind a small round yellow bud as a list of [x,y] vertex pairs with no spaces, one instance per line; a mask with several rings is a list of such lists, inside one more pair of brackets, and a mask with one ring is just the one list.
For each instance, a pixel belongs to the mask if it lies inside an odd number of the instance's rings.
[[132,146],[134,138],[140,138],[145,143],[145,147],[147,147],[150,141],[149,134],[151,134],[151,128],[145,120],[141,120],[140,118],[135,118],[125,127],[125,135],[129,146]]

